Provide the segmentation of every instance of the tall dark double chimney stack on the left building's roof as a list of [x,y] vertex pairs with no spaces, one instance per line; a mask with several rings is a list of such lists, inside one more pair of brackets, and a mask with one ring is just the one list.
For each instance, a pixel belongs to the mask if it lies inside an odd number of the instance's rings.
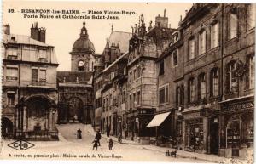
[[38,22],[32,24],[32,27],[30,28],[30,37],[32,39],[35,39],[39,42],[45,42],[45,33],[46,30],[44,27],[38,29]]

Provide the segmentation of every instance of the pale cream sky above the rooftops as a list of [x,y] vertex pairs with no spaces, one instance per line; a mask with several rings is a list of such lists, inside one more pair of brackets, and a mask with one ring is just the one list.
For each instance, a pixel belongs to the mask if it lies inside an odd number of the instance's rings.
[[[70,71],[71,61],[70,52],[73,42],[79,38],[80,29],[83,21],[86,22],[86,28],[89,33],[89,39],[94,43],[96,54],[102,54],[106,45],[106,38],[113,31],[131,32],[131,25],[138,23],[139,16],[144,15],[146,27],[149,21],[153,21],[155,16],[163,16],[166,9],[166,16],[169,18],[169,24],[172,28],[177,28],[180,15],[184,18],[185,10],[191,8],[192,3],[88,3],[88,2],[3,2],[3,24],[10,25],[10,32],[13,34],[30,36],[32,23],[38,22],[38,27],[46,28],[46,43],[55,47],[55,54],[58,59],[58,71]],[[9,13],[9,9],[14,9],[15,13]],[[93,11],[131,11],[135,14],[119,14],[119,20],[96,20],[96,19],[41,19],[24,18],[21,9],[55,9],[55,10],[79,10],[88,14]],[[54,14],[55,16],[56,14]],[[73,14],[75,15],[75,14]],[[83,14],[84,15],[84,14]],[[98,14],[99,15],[99,14]],[[100,14],[103,15],[103,14]],[[61,14],[62,16],[62,14]]]

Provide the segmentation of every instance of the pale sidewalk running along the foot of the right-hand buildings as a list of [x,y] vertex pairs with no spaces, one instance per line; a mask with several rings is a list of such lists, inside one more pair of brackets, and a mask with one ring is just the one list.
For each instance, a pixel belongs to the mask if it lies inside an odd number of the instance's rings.
[[[86,125],[84,130],[88,131],[89,133],[91,133],[92,135],[96,135],[96,132],[94,131],[94,129],[92,127],[90,127],[90,125]],[[102,134],[102,138],[108,139],[106,134]],[[113,139],[114,142],[118,142],[118,139],[116,137],[111,136],[111,138]],[[155,146],[155,145],[142,145],[142,144],[138,144],[134,141],[131,140],[126,140],[126,139],[122,139],[122,144],[131,144],[131,146],[135,146],[138,147],[140,146],[140,148],[145,149],[145,150],[154,150],[154,151],[158,151],[160,153],[166,154],[166,150],[169,151],[174,151],[176,149],[172,149],[172,148],[166,148],[166,147],[160,147],[160,146]],[[221,156],[217,156],[217,155],[207,155],[207,154],[201,154],[201,153],[195,153],[195,152],[189,152],[189,151],[185,151],[185,150],[176,150],[177,151],[177,157],[182,157],[182,158],[193,158],[193,159],[198,159],[198,160],[202,160],[202,161],[209,161],[209,162],[213,162],[213,163],[249,163],[248,160],[241,160],[238,158],[232,159],[232,158],[225,158],[225,157],[221,157]],[[252,161],[253,163],[253,161]]]

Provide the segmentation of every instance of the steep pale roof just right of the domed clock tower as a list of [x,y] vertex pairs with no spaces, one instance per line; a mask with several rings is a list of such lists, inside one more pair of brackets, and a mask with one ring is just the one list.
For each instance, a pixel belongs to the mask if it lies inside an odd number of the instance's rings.
[[132,34],[130,32],[124,31],[112,31],[108,37],[109,45],[119,44],[121,53],[125,53],[129,48],[129,40],[131,39]]

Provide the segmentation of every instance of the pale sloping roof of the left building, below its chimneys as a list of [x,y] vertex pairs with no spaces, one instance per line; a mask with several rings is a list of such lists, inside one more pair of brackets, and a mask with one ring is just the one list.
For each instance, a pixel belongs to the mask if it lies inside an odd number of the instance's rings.
[[17,35],[17,34],[10,34],[10,35],[4,34],[3,43],[8,43],[8,42],[13,42],[18,44],[30,44],[30,45],[37,45],[37,46],[43,46],[43,47],[53,47],[44,42],[39,42],[35,39],[32,39],[29,36]]

